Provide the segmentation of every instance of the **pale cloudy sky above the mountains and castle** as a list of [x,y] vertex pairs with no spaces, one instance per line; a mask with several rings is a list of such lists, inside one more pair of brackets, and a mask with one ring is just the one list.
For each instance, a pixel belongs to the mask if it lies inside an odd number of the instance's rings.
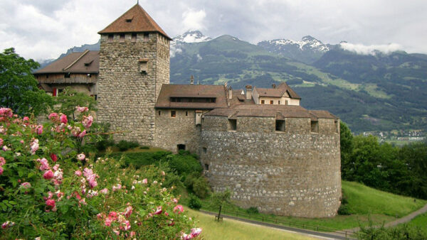
[[[0,0],[0,50],[24,58],[58,58],[68,48],[93,44],[98,31],[137,0]],[[199,30],[250,43],[313,36],[368,54],[427,53],[426,0],[139,0],[171,37]]]

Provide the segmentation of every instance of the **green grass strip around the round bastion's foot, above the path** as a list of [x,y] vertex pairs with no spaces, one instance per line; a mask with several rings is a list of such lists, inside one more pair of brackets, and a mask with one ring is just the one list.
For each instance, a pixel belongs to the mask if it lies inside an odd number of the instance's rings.
[[[288,226],[291,224],[292,227],[302,227],[302,224],[305,224],[305,228],[308,229],[315,229],[319,226],[324,228],[319,229],[320,231],[334,231],[352,229],[359,227],[359,224],[367,225],[369,217],[375,224],[391,222],[396,219],[396,216],[404,217],[416,209],[423,207],[427,202],[426,200],[416,200],[416,202],[413,202],[413,198],[411,197],[403,197],[389,192],[374,190],[357,182],[342,181],[342,191],[347,196],[348,206],[350,212],[352,212],[351,215],[307,219],[302,217],[274,216],[272,214],[248,214],[246,209],[236,207],[233,204],[229,204],[223,207],[223,209],[226,211],[224,214],[238,215],[238,217],[246,217],[259,221],[264,219],[265,222],[273,223],[277,221],[278,224],[282,222],[282,224]],[[183,200],[185,204],[185,197],[183,197]],[[211,212],[218,211],[217,207],[209,199],[202,200],[202,209]]]

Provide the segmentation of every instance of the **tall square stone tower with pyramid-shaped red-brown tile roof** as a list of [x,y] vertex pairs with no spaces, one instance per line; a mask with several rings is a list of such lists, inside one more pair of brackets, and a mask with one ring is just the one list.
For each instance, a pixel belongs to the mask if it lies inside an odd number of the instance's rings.
[[169,84],[171,38],[139,4],[99,32],[97,119],[110,123],[115,140],[152,145],[156,104]]

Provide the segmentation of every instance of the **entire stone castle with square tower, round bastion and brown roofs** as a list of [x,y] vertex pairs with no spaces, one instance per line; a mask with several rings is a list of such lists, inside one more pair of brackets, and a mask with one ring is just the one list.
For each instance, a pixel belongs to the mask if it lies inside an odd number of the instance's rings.
[[341,198],[339,119],[272,88],[169,84],[172,38],[139,4],[99,32],[100,51],[71,53],[34,73],[54,96],[66,86],[97,99],[97,120],[138,141],[200,156],[214,190],[241,207],[332,217]]

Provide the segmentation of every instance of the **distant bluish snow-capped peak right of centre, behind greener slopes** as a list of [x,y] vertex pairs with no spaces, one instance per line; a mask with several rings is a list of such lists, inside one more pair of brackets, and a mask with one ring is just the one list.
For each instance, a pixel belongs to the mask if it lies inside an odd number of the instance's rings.
[[265,40],[258,45],[270,53],[277,53],[306,63],[314,62],[330,50],[328,45],[312,36],[305,36],[300,41],[290,39]]

